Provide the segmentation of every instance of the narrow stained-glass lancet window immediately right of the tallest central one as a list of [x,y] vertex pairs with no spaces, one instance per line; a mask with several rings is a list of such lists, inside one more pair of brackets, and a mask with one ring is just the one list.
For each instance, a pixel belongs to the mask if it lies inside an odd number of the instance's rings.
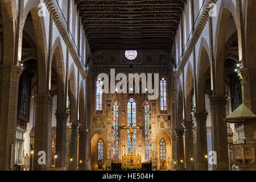
[[144,106],[145,110],[145,159],[150,159],[150,123],[149,123],[149,105]]

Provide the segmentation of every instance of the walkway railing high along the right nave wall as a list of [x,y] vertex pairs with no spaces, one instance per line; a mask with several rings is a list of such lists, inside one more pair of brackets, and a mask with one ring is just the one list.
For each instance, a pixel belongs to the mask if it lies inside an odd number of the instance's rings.
[[[193,24],[192,30],[191,30],[191,32],[190,32],[190,34],[189,34],[189,36],[188,36],[188,39],[187,39],[187,42],[186,42],[185,46],[184,46],[183,49],[182,49],[182,52],[181,52],[179,61],[177,62],[177,68],[180,67],[181,61],[182,61],[182,59],[183,59],[183,57],[184,57],[185,50],[187,49],[188,45],[191,43],[191,39],[192,39],[192,36],[193,36],[193,32],[195,31],[195,29],[196,29],[196,27],[197,27],[197,25],[198,25],[198,23],[199,23],[199,20],[200,20],[200,18],[201,18],[201,14],[203,13],[203,10],[204,10],[205,7],[207,6],[207,2],[208,2],[208,0],[204,0],[203,5],[201,6],[201,8],[200,8],[200,10],[199,10],[199,13],[198,13],[197,16],[196,16],[196,20],[195,20],[195,22],[194,22],[194,24]],[[183,30],[182,30],[182,31],[183,31]]]

